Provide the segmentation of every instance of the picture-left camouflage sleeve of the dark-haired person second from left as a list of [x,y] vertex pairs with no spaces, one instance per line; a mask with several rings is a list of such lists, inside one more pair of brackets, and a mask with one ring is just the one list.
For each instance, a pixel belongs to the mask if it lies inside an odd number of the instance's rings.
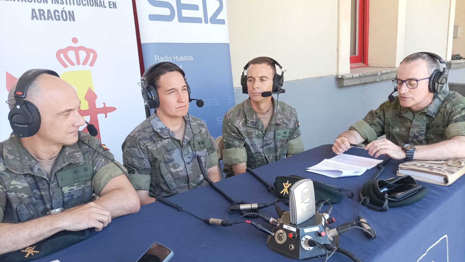
[[137,138],[128,136],[122,145],[123,165],[126,167],[127,178],[135,190],[150,189],[150,171],[152,167],[145,148]]

